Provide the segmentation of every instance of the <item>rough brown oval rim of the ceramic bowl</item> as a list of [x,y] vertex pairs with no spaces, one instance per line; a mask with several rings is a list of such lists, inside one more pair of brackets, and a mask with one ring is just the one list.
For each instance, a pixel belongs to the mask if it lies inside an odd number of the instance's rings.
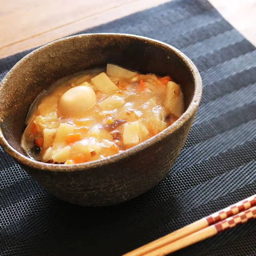
[[[145,36],[137,36],[137,35],[132,35],[132,34],[122,34],[122,33],[88,33],[88,34],[79,34],[75,36],[68,36],[64,37],[58,40],[55,40],[51,43],[45,44],[36,50],[28,53],[26,56],[24,56],[20,61],[18,61],[11,70],[4,76],[3,80],[0,83],[0,88],[8,81],[8,76],[9,74],[12,73],[12,71],[22,65],[22,63],[27,60],[28,58],[32,57],[35,53],[44,51],[47,49],[49,46],[52,46],[54,44],[60,44],[64,41],[77,38],[77,37],[92,37],[92,36],[119,36],[119,37],[129,37],[129,38],[134,38],[140,41],[144,41],[145,43],[154,43],[157,46],[160,46],[162,48],[165,48],[169,51],[172,51],[175,53],[187,66],[189,69],[192,77],[193,77],[193,82],[195,84],[195,91],[194,91],[194,96],[186,109],[186,111],[180,116],[180,118],[175,121],[173,124],[165,128],[163,131],[157,133],[155,136],[149,138],[148,140],[145,140],[141,143],[139,143],[136,146],[133,146],[132,148],[126,149],[121,153],[118,153],[113,156],[108,156],[104,159],[99,159],[99,160],[94,160],[86,163],[80,163],[80,164],[48,164],[48,163],[43,163],[39,162],[36,160],[33,160],[29,158],[28,156],[24,156],[21,153],[19,153],[16,149],[14,149],[8,141],[4,138],[2,129],[0,127],[0,144],[3,146],[4,150],[12,156],[17,162],[27,165],[31,168],[36,168],[36,169],[41,169],[45,171],[58,171],[58,172],[72,172],[72,171],[83,171],[83,170],[89,170],[92,168],[97,168],[101,167],[103,165],[111,164],[117,161],[120,161],[128,156],[131,156],[133,154],[136,154],[140,152],[141,150],[147,148],[150,145],[153,145],[161,140],[163,140],[165,137],[167,137],[170,133],[175,132],[177,129],[179,129],[183,124],[185,124],[191,116],[193,116],[196,113],[196,110],[199,106],[201,96],[202,96],[202,79],[199,74],[198,69],[196,68],[195,64],[190,60],[183,52],[175,48],[174,46],[170,44],[166,44],[164,42],[161,42],[159,40],[151,39]],[[0,122],[3,122],[0,118]]]

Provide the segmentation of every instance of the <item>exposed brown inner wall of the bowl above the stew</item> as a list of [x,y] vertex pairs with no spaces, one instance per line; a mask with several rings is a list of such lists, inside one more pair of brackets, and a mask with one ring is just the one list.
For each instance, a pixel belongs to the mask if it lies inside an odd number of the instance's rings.
[[195,92],[191,68],[183,54],[160,42],[128,35],[68,37],[43,46],[18,62],[0,88],[0,125],[5,139],[21,154],[25,119],[36,96],[57,79],[114,63],[141,73],[170,75],[182,87],[185,109]]

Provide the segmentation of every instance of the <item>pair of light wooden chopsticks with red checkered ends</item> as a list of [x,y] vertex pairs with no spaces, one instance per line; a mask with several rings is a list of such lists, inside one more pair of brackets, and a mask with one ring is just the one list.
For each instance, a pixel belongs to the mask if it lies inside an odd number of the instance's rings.
[[160,256],[233,228],[256,217],[256,194],[197,220],[123,256]]

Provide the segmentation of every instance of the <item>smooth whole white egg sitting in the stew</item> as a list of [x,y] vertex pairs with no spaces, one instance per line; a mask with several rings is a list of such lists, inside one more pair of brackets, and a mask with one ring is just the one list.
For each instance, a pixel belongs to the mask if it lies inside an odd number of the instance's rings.
[[65,92],[59,101],[58,109],[61,115],[81,115],[96,103],[96,95],[89,86],[76,86]]

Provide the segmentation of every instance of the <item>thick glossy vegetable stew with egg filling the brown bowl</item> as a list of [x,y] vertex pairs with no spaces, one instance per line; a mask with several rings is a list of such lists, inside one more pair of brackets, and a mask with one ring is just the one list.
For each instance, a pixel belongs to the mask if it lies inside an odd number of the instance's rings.
[[184,112],[169,76],[108,64],[61,79],[31,106],[21,145],[32,158],[77,164],[115,155],[156,135]]

